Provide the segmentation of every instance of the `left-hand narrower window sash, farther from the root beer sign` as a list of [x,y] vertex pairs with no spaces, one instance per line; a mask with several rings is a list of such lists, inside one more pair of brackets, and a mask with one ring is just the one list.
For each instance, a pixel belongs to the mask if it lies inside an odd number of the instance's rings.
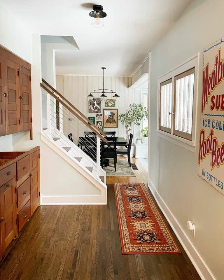
[[172,79],[160,84],[160,130],[171,133]]

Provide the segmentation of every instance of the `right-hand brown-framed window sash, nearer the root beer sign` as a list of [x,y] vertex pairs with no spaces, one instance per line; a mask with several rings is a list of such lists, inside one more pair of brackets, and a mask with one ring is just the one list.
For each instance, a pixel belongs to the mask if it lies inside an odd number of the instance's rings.
[[195,68],[174,78],[174,135],[191,140]]

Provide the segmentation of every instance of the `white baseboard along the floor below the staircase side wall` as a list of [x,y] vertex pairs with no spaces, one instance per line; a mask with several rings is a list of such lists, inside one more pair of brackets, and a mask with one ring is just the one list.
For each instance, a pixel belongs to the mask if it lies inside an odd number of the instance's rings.
[[106,197],[103,195],[71,195],[71,196],[44,196],[41,195],[41,205],[73,205],[73,204],[103,204]]

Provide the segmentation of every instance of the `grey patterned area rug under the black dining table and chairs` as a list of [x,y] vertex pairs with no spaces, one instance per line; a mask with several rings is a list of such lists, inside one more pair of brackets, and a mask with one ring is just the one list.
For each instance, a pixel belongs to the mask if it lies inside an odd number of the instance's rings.
[[114,171],[113,159],[109,159],[109,164],[109,166],[104,167],[104,170],[106,171],[106,176],[135,176],[126,158],[117,159],[116,172]]

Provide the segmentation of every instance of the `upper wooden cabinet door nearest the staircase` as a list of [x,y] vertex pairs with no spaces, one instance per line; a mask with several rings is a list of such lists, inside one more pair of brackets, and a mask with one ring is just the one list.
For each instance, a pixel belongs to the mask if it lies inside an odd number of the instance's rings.
[[20,65],[21,131],[32,129],[31,72]]

